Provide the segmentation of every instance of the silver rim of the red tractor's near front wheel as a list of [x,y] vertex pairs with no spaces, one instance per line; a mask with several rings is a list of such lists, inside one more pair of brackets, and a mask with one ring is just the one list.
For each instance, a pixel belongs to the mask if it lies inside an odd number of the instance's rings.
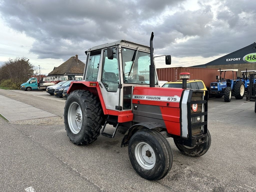
[[152,147],[145,143],[138,143],[134,149],[138,164],[144,169],[152,169],[156,163],[155,152]]

